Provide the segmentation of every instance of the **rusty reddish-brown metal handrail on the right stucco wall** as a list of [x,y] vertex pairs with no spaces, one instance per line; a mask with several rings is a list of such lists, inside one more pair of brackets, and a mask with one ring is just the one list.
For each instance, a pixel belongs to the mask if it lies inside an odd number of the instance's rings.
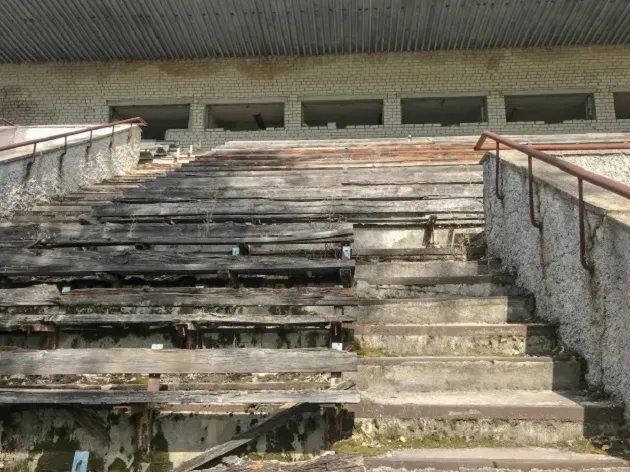
[[[497,163],[495,166],[495,193],[497,198],[503,200],[504,195],[499,191],[499,182],[501,180],[501,159],[499,155],[499,150],[501,149],[501,144],[507,146],[509,149],[514,149],[517,151],[521,151],[523,154],[527,155],[527,176],[528,176],[528,184],[529,184],[529,218],[532,226],[542,230],[542,223],[537,222],[534,215],[534,188],[533,188],[533,172],[532,172],[532,157],[539,159],[549,165],[552,165],[563,172],[566,172],[569,175],[577,177],[578,179],[578,204],[579,204],[579,219],[580,219],[580,262],[582,267],[586,270],[591,271],[592,266],[586,260],[586,230],[584,227],[584,182],[588,182],[597,187],[603,188],[610,192],[613,192],[621,197],[627,198],[630,200],[630,186],[622,184],[621,182],[617,182],[616,180],[609,179],[608,177],[604,177],[603,175],[595,174],[590,172],[580,166],[576,166],[575,164],[571,164],[559,157],[552,156],[551,154],[547,154],[543,152],[540,148],[543,146],[528,146],[526,144],[517,143],[516,141],[512,141],[500,134],[493,133],[492,131],[484,131],[481,133],[481,137],[477,144],[475,144],[475,151],[483,150],[483,145],[486,142],[486,139],[492,139],[495,141],[496,146],[494,151],[497,156]],[[630,145],[626,143],[590,143],[590,144],[559,144],[559,145],[549,145],[554,146],[555,150],[558,151],[584,151],[584,150],[605,150],[605,149],[630,149]],[[490,148],[492,150],[492,148]]]

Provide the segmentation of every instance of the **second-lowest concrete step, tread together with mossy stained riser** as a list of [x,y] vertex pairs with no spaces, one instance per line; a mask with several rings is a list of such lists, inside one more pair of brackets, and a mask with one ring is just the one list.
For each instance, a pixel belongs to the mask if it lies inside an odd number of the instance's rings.
[[545,445],[622,431],[623,408],[551,391],[362,394],[348,405],[355,434],[383,440],[428,435]]

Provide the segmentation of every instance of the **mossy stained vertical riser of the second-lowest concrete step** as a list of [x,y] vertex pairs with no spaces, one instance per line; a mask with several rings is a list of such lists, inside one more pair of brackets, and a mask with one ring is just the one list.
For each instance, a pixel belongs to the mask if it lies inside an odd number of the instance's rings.
[[355,434],[383,441],[405,437],[437,436],[476,441],[506,441],[521,446],[544,446],[585,436],[618,434],[619,424],[584,424],[582,421],[538,419],[369,418],[357,415]]

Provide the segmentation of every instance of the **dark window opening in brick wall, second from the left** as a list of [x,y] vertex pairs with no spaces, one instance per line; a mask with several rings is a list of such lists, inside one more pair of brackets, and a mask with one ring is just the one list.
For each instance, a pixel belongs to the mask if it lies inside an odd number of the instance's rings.
[[206,128],[255,131],[284,127],[284,103],[208,105]]

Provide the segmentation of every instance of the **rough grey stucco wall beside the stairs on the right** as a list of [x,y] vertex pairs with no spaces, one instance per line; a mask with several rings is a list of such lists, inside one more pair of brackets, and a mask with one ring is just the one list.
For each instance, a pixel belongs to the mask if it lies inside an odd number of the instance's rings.
[[501,201],[496,159],[489,156],[484,205],[490,255],[516,273],[517,285],[534,294],[538,315],[557,324],[568,349],[586,359],[589,384],[630,406],[630,201],[585,185],[589,273],[579,258],[576,179],[535,162],[539,231],[529,221],[526,158],[501,154]]

